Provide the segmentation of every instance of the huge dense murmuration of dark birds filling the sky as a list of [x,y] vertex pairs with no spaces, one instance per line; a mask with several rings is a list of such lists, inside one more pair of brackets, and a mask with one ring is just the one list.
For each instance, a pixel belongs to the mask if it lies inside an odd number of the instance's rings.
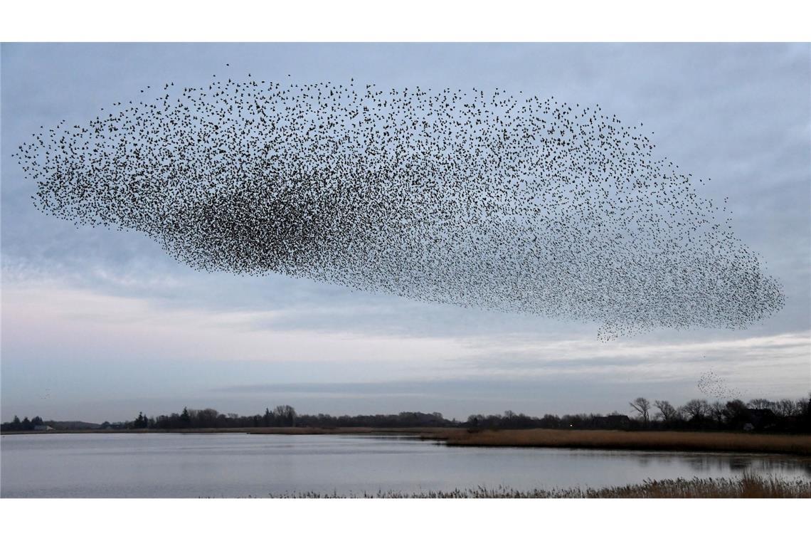
[[599,106],[496,88],[218,79],[32,134],[35,204],[206,271],[487,310],[741,328],[783,306],[701,180]]

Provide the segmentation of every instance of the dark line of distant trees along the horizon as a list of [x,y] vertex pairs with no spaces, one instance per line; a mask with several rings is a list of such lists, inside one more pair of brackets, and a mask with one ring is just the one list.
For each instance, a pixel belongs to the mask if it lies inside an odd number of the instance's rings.
[[440,413],[403,411],[399,414],[340,415],[297,414],[293,406],[266,408],[264,414],[221,414],[217,410],[191,410],[181,413],[148,417],[143,412],[123,423],[83,423],[79,421],[44,421],[37,416],[22,421],[15,416],[11,423],[2,423],[2,432],[38,430],[177,430],[195,428],[247,428],[247,427],[372,427],[414,428],[446,427],[479,429],[508,428],[564,428],[564,429],[618,429],[618,430],[742,430],[754,432],[811,432],[811,398],[770,401],[758,398],[749,402],[740,400],[691,400],[683,406],[672,406],[669,401],[649,401],[644,397],[629,402],[633,415],[613,412],[599,414],[547,414],[530,417],[505,411],[504,414],[470,415],[466,421],[445,419]]

